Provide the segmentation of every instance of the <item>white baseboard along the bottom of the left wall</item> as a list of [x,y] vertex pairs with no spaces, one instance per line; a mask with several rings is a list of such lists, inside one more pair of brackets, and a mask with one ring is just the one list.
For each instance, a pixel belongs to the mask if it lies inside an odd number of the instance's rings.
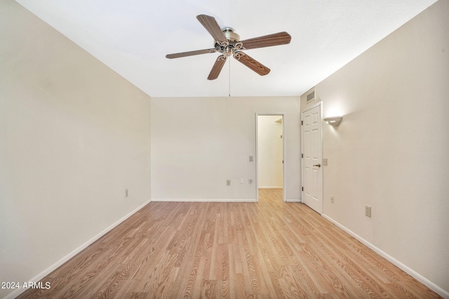
[[[86,249],[87,246],[91,245],[93,242],[95,242],[98,239],[100,239],[100,237],[102,237],[107,232],[109,232],[109,230],[112,230],[117,225],[119,225],[120,223],[122,223],[123,221],[128,219],[130,216],[133,216],[133,214],[135,214],[137,211],[142,209],[142,207],[145,207],[147,204],[149,204],[149,202],[152,202],[152,200],[147,200],[147,202],[144,202],[139,207],[135,208],[133,211],[130,211],[130,213],[126,214],[125,216],[120,218],[115,223],[112,223],[112,225],[109,225],[107,228],[105,228],[105,230],[102,230],[101,232],[99,232],[98,235],[95,235],[95,237],[89,239],[87,242],[85,242],[84,244],[82,244],[78,248],[74,249],[74,251],[72,251],[71,253],[67,254],[67,256],[61,258],[60,260],[58,260],[53,265],[51,265],[50,267],[46,268],[46,270],[43,270],[41,273],[37,274],[35,277],[33,277],[32,279],[30,279],[28,281],[36,281],[37,282],[37,281],[43,279],[43,277],[46,277],[48,274],[50,274],[51,272],[56,270],[60,265],[62,265],[63,263],[67,262],[67,260],[69,260],[70,258],[73,258],[74,256],[76,256],[76,254],[78,254],[81,251],[83,251],[83,249]],[[25,291],[27,291],[27,288],[18,288],[15,291],[13,291],[12,293],[9,293],[8,295],[6,295],[6,297],[4,299],[13,299],[13,298],[17,297],[18,295],[20,295],[21,293],[23,293]]]

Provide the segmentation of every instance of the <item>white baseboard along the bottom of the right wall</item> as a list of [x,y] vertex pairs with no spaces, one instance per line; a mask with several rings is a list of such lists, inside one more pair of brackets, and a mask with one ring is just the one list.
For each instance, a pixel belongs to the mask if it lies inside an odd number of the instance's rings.
[[377,248],[376,246],[374,246],[370,242],[366,241],[366,239],[363,239],[362,237],[357,235],[355,232],[349,230],[344,225],[341,225],[337,221],[333,220],[333,218],[330,218],[326,214],[321,214],[321,216],[323,216],[324,218],[326,218],[328,221],[332,222],[333,224],[337,225],[337,227],[341,228],[342,230],[347,232],[352,237],[358,239],[358,241],[360,241],[363,244],[365,244],[366,246],[368,246],[368,248],[370,248],[373,251],[375,251],[375,253],[379,254],[380,256],[382,256],[383,258],[388,260],[393,265],[396,265],[396,267],[400,268],[401,270],[403,270],[404,272],[409,274],[411,277],[415,278],[417,281],[420,281],[422,284],[424,284],[424,286],[427,286],[428,288],[430,288],[432,291],[434,291],[438,295],[441,295],[441,297],[449,299],[449,292],[448,291],[445,291],[443,288],[437,286],[432,281],[430,281],[426,277],[422,276],[420,273],[418,273],[415,270],[411,269],[407,265],[404,265],[400,261],[396,260],[396,258],[390,256],[388,253],[386,253],[386,252],[382,251],[381,249]]

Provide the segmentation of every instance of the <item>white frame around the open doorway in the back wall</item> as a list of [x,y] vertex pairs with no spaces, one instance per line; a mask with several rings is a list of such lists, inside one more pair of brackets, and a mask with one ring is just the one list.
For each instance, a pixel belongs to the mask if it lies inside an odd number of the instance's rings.
[[282,200],[286,201],[286,114],[285,113],[255,113],[255,200],[259,201],[259,127],[258,116],[282,116]]

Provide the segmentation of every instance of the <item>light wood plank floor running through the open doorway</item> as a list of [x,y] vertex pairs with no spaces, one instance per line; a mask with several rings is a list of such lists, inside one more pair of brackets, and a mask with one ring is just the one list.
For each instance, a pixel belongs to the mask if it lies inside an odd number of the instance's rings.
[[18,298],[439,298],[281,197],[151,202]]

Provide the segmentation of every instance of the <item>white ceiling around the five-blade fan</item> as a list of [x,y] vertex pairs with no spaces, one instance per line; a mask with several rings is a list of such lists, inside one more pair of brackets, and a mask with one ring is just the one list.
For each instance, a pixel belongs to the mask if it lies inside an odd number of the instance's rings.
[[[302,95],[435,0],[17,0],[152,97]],[[288,45],[246,50],[272,69],[259,76],[213,48],[196,15],[215,17],[241,40],[286,31]],[[230,64],[229,64],[230,61]],[[230,71],[230,74],[229,74]]]

